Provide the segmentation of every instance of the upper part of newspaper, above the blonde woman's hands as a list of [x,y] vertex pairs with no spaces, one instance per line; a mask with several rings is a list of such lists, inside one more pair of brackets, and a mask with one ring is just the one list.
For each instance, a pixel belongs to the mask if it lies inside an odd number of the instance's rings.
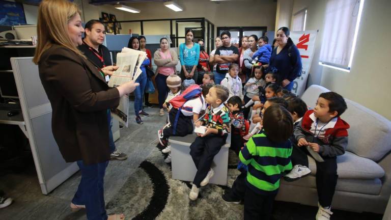
[[125,82],[135,81],[142,73],[140,67],[146,57],[147,53],[144,51],[124,47],[122,52],[117,53],[119,68],[111,75],[108,86],[118,87]]

